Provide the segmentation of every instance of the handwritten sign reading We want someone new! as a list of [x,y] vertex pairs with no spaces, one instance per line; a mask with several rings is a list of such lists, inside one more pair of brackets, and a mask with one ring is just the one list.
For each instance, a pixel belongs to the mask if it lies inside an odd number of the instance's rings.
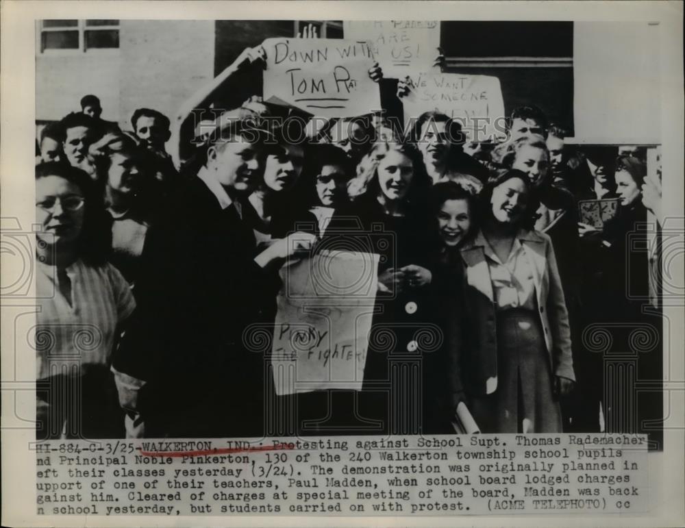
[[[495,120],[504,117],[504,100],[497,77],[459,73],[410,75],[412,91],[402,99],[405,123],[423,112],[437,110],[462,125],[469,139],[495,134]],[[503,127],[503,123],[500,123]]]

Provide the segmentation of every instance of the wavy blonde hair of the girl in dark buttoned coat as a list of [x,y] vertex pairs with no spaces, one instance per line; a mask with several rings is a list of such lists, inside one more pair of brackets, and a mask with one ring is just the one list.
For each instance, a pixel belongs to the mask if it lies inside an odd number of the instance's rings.
[[408,142],[382,141],[375,143],[371,151],[358,164],[356,177],[353,177],[347,184],[347,192],[350,199],[355,200],[366,194],[377,194],[380,192],[377,168],[381,160],[390,151],[400,152],[412,160],[414,176],[412,177],[412,183],[406,200],[412,202],[419,201],[422,197],[425,198],[432,181],[426,173],[421,153],[413,144]]

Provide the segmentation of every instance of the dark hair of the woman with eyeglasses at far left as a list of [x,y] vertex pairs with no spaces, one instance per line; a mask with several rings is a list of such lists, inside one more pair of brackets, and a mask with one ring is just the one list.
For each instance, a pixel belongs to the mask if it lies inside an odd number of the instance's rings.
[[77,186],[84,196],[84,224],[77,241],[79,257],[92,266],[104,264],[112,249],[112,220],[105,212],[102,194],[88,173],[61,162],[36,165],[36,181],[58,176]]

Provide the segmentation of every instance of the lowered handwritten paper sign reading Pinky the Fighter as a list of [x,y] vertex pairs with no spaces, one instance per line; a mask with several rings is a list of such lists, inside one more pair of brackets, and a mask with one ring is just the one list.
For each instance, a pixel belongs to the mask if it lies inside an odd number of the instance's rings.
[[276,393],[361,390],[378,255],[321,251],[284,266],[271,364]]

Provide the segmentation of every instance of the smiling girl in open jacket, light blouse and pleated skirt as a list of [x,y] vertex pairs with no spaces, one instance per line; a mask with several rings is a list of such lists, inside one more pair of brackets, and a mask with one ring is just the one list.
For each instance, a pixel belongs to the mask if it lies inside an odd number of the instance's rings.
[[490,181],[482,225],[461,249],[469,324],[460,366],[484,433],[561,432],[558,397],[575,380],[556,257],[532,229],[530,190],[514,169]]

